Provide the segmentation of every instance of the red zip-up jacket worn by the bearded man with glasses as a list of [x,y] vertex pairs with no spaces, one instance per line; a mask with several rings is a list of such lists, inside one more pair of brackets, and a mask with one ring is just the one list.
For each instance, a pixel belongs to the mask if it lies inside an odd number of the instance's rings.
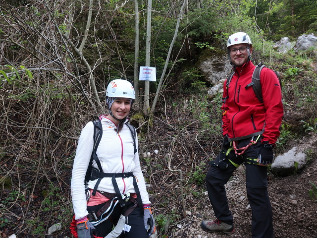
[[[263,141],[275,144],[280,134],[279,127],[283,117],[281,87],[273,70],[264,67],[261,70],[263,101],[256,97],[252,87],[245,88],[252,82],[255,65],[249,61],[235,69],[228,89],[227,80],[223,85],[222,130],[232,140],[239,140],[263,131]],[[265,126],[264,126],[265,122]]]

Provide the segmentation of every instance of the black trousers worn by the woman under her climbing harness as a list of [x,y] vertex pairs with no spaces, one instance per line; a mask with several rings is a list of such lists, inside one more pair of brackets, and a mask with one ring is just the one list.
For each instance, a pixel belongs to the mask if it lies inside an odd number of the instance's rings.
[[[105,205],[105,203],[96,205],[96,206],[87,206],[87,211],[98,211],[100,208],[102,208]],[[128,202],[127,208],[133,206],[134,203]],[[114,217],[117,217],[117,219],[120,217],[121,211],[120,211],[120,204],[117,204],[114,208],[114,211],[112,215]],[[111,216],[112,216],[111,215]],[[106,220],[103,223],[96,226],[95,235],[98,237],[106,237],[111,231],[113,226],[116,225],[117,220],[115,221],[109,221]],[[147,230],[144,228],[144,221],[143,216],[141,216],[140,208],[139,206],[136,206],[136,208],[127,216],[126,218],[126,225],[130,226],[131,229],[129,232],[123,231],[120,235],[120,238],[148,238]]]

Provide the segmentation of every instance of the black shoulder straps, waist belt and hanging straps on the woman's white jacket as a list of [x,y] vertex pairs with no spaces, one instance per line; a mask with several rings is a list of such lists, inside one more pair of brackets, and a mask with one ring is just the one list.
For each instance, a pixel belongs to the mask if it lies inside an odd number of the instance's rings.
[[[118,184],[116,182],[116,178],[124,179],[124,178],[132,177],[133,178],[133,186],[134,186],[135,192],[137,194],[137,203],[140,207],[140,211],[143,213],[143,204],[142,204],[142,200],[141,200],[141,194],[140,194],[140,190],[139,190],[136,178],[134,177],[133,173],[132,172],[129,172],[129,173],[103,173],[103,169],[102,169],[100,160],[98,159],[98,156],[97,156],[97,148],[98,148],[98,145],[99,145],[100,140],[101,140],[102,135],[103,135],[103,127],[102,127],[100,119],[94,120],[93,123],[94,123],[94,147],[93,147],[93,152],[92,152],[89,166],[88,166],[86,176],[85,176],[85,184],[87,184],[87,182],[89,180],[98,179],[96,182],[96,185],[93,189],[93,192],[92,192],[92,195],[95,196],[96,192],[97,192],[98,185],[100,184],[101,180],[103,178],[111,178],[111,181],[112,181],[117,199],[120,203],[120,206],[124,207],[125,202],[122,198],[122,194],[120,193]],[[133,138],[134,153],[137,153],[138,150],[136,148],[136,130],[135,130],[135,127],[133,125],[128,124],[128,123],[125,123],[125,124],[130,129],[130,132],[131,132],[131,135]],[[96,162],[98,169],[96,169],[96,168],[92,169],[93,160]],[[89,190],[87,189],[86,192],[89,192]]]

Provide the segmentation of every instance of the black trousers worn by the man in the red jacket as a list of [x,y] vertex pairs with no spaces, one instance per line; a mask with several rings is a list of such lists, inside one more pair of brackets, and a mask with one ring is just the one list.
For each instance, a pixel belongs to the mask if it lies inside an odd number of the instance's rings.
[[[246,146],[250,139],[239,141],[237,147]],[[239,165],[245,163],[247,197],[252,210],[252,238],[273,238],[272,209],[267,192],[267,167],[247,163],[257,158],[260,147],[261,143],[258,142],[241,156],[236,156],[234,150],[231,150],[228,159]],[[217,157],[215,164],[218,159]],[[206,176],[208,196],[215,217],[228,224],[233,224],[233,217],[229,210],[224,184],[235,170],[236,167],[228,162],[228,168],[225,170],[211,166]]]

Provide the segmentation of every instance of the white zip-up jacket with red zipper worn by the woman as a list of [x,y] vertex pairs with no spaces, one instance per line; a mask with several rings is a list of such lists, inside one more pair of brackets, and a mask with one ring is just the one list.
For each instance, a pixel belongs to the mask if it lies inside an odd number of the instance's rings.
[[[97,148],[97,156],[100,160],[104,173],[127,173],[133,172],[137,179],[143,204],[151,204],[147,192],[144,177],[140,167],[138,152],[134,154],[133,138],[127,125],[123,125],[121,131],[115,131],[115,124],[105,116],[100,117],[103,126],[103,136]],[[127,121],[126,121],[127,122]],[[94,124],[88,122],[82,129],[71,179],[71,196],[75,219],[81,219],[88,215],[87,201],[85,195],[84,179],[89,165],[94,145]],[[138,148],[138,139],[136,138]],[[98,168],[95,161],[93,168]],[[98,179],[89,181],[88,187],[94,188]],[[135,193],[133,178],[116,178],[121,193]],[[115,193],[111,178],[103,178],[98,186],[99,191]]]

